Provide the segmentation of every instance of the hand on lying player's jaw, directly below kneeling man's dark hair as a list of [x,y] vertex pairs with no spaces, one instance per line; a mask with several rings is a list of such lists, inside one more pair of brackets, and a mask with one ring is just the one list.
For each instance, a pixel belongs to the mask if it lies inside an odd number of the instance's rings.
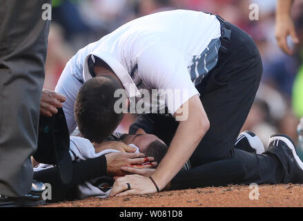
[[113,149],[124,153],[125,152],[133,153],[136,151],[135,147],[128,146],[127,144],[124,144],[124,142],[119,142],[119,141],[105,141],[105,142],[101,142],[100,144],[92,143],[92,145],[95,147],[96,153],[99,153],[106,149]]

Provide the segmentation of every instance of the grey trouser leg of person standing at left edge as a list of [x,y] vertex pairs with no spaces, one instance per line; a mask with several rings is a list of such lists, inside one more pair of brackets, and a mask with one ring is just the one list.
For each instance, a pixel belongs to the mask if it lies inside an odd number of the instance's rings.
[[21,197],[32,187],[50,25],[44,3],[51,0],[0,0],[0,195]]

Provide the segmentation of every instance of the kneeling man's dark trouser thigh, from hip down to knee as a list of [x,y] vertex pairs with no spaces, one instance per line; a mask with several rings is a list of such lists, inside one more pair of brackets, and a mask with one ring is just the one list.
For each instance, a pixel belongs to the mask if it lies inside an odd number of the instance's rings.
[[231,150],[255,99],[262,60],[253,39],[231,25],[228,52],[197,86],[211,126],[190,158],[192,166],[231,157]]

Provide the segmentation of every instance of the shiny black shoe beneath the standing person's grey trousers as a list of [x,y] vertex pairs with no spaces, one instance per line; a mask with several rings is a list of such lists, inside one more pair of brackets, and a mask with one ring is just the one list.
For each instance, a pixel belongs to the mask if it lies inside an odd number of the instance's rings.
[[0,195],[0,207],[28,207],[39,206],[45,204],[42,199],[42,193],[46,190],[46,186],[42,182],[34,180],[30,193],[23,195],[20,198],[12,198],[6,195]]

